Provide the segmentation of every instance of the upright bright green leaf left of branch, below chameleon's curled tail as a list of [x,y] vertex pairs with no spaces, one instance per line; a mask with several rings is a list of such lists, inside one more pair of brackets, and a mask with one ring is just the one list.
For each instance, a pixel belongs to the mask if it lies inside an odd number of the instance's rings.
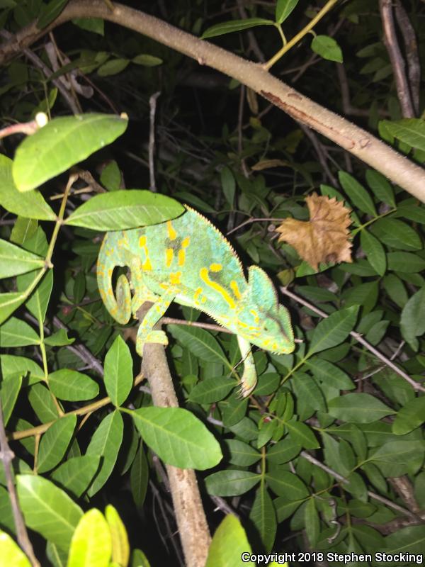
[[130,349],[121,335],[116,337],[106,353],[103,379],[111,402],[120,406],[127,399],[133,382]]

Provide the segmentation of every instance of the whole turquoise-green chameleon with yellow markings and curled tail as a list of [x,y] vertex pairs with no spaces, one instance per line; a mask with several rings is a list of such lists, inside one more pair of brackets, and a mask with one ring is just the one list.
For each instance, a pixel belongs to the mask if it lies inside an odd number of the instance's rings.
[[[250,266],[248,281],[236,252],[203,215],[185,205],[179,218],[159,225],[107,232],[98,256],[97,280],[103,303],[124,324],[142,303],[152,301],[137,332],[136,351],[146,342],[168,344],[164,331],[153,330],[171,301],[204,311],[237,335],[244,361],[241,393],[256,386],[251,344],[278,354],[295,348],[290,315],[279,305],[265,271]],[[131,284],[112,274],[128,266]]]

